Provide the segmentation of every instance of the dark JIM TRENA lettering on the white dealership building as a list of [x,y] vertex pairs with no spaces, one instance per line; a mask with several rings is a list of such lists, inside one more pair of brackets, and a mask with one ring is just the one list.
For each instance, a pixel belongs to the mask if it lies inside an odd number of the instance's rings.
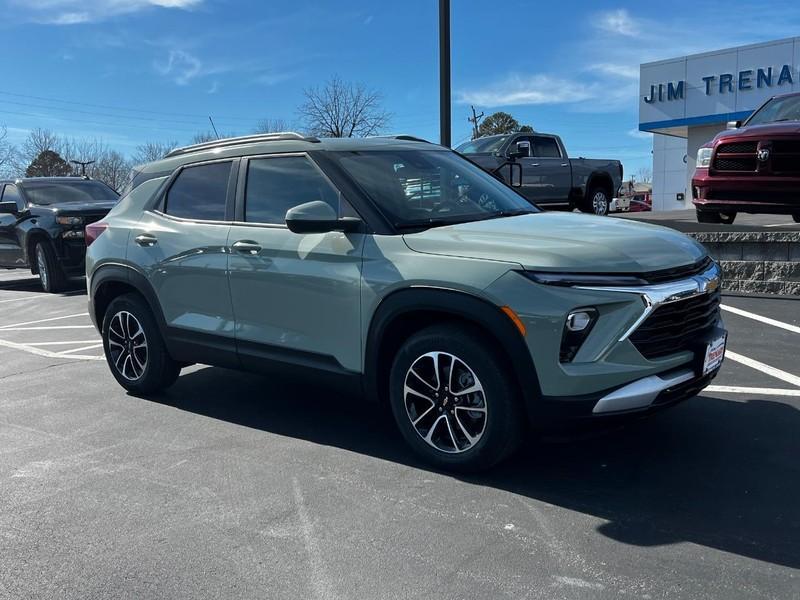
[[[738,77],[733,73],[720,73],[719,75],[702,77],[703,84],[698,87],[705,87],[706,96],[728,94],[734,93],[735,89],[745,91],[753,88],[769,88],[785,84],[793,85],[795,75],[797,73],[792,69],[791,65],[783,65],[780,69],[773,67],[745,69],[739,71]],[[644,96],[643,100],[648,104],[683,100],[686,93],[686,85],[686,81],[683,80],[652,84],[650,86],[650,94]]]

